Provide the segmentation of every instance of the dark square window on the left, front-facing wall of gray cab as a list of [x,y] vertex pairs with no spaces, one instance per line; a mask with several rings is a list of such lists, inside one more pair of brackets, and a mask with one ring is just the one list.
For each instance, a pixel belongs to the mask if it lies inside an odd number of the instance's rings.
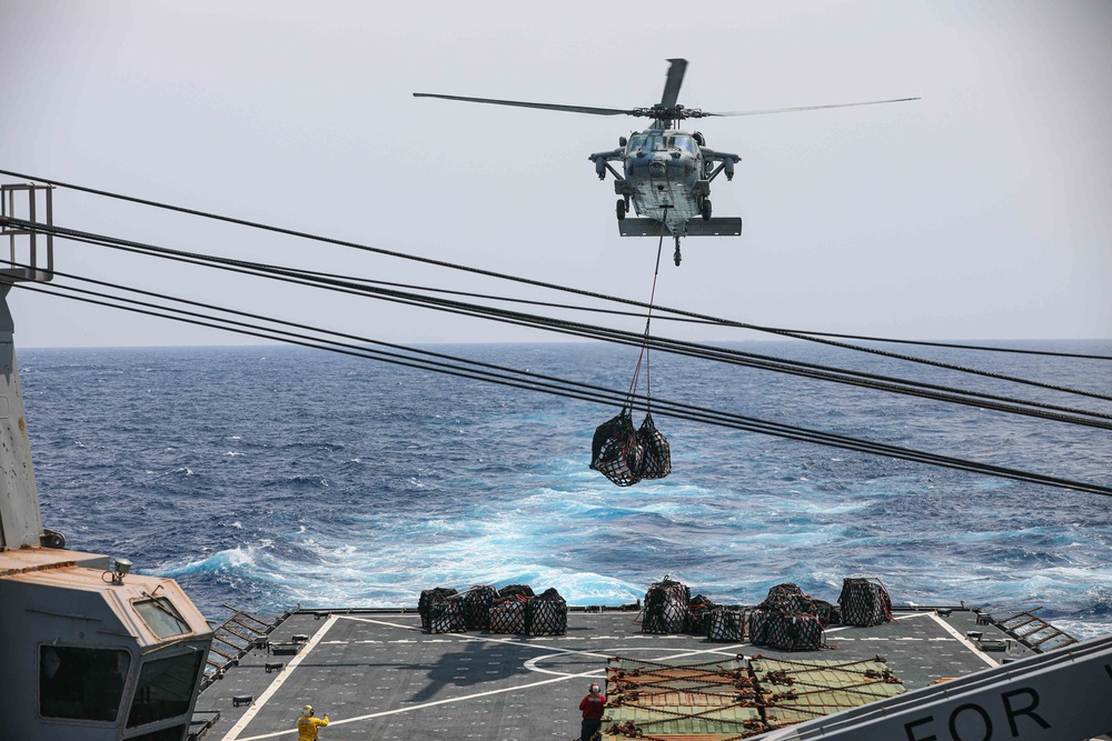
[[39,647],[39,714],[113,721],[131,655],[118,649]]

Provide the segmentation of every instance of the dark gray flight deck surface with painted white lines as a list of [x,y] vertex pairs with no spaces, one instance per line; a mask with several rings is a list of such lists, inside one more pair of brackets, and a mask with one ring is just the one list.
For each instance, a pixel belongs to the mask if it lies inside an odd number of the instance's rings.
[[[964,640],[967,630],[1004,638],[995,628],[976,625],[971,612],[894,614],[895,622],[875,628],[831,629],[826,640],[836,649],[790,653],[694,635],[644,634],[634,624],[635,612],[570,612],[567,634],[560,637],[429,634],[414,612],[302,612],[270,635],[272,643],[308,637],[297,654],[252,650],[201,693],[197,711],[219,711],[220,720],[203,738],[222,741],[296,739],[295,723],[306,703],[317,715],[330,715],[321,739],[575,739],[579,700],[592,681],[602,680],[612,657],[694,663],[738,653],[793,661],[880,655],[909,690],[1004,659]],[[285,667],[279,670],[277,663]],[[236,707],[234,698],[245,695],[252,703]]]

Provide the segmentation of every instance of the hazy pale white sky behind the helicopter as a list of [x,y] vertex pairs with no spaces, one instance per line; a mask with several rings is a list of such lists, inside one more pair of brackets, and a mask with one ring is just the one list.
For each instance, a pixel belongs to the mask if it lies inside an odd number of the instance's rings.
[[[900,338],[1109,338],[1110,29],[1106,0],[0,0],[0,169],[646,300],[655,241],[618,237],[587,160],[641,120],[410,93],[645,106],[682,57],[679,101],[707,110],[922,100],[697,122],[743,158],[712,199],[745,230],[686,240],[678,269],[665,246],[659,302]],[[178,249],[530,296],[72,191],[54,211]],[[56,264],[391,341],[559,339],[81,244]],[[248,341],[10,302],[22,347]]]

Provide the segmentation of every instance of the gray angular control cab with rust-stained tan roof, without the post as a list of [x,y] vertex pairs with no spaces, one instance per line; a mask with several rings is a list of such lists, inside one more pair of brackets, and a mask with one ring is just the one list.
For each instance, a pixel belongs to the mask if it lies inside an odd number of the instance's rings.
[[[108,567],[108,557],[93,553],[49,548],[0,552],[0,697],[4,729],[12,739],[117,741],[188,725],[211,630],[172,580],[130,574],[109,582],[103,578]],[[156,634],[135,607],[151,594],[168,600],[188,628],[166,638]],[[113,663],[111,671],[99,668],[90,680],[81,664],[63,653],[81,650],[112,652],[126,660]],[[48,655],[51,651],[53,655]],[[202,658],[191,684],[182,689],[189,692],[188,707],[172,718],[128,729],[133,703],[143,702],[136,700],[143,668],[182,653]],[[92,709],[103,717],[43,718],[42,688],[54,680],[64,687],[56,695],[80,705],[62,712]],[[115,689],[109,691],[109,685]]]

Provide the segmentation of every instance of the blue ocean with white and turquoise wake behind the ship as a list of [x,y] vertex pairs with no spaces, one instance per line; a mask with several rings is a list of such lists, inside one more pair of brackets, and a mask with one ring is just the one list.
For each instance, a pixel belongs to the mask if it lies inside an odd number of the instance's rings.
[[[729,347],[1112,413],[821,344]],[[1112,356],[1108,341],[1019,347]],[[602,343],[435,350],[620,390],[637,362]],[[1108,361],[902,352],[1112,395]],[[172,577],[211,619],[416,605],[478,583],[620,604],[665,574],[715,601],[782,582],[833,601],[865,575],[900,603],[1042,607],[1079,638],[1112,631],[1112,500],[1096,494],[659,414],[673,473],[618,488],[588,469],[612,407],[282,346],[19,361],[47,527]],[[1102,430],[661,352],[651,370],[663,399],[1112,484]]]

